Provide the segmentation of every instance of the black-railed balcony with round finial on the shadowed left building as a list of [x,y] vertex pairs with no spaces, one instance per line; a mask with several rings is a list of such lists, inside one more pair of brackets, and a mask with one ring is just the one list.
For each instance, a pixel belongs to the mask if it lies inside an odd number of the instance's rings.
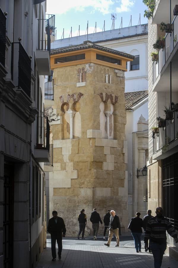
[[20,42],[12,43],[11,77],[15,86],[30,98],[31,59]]

